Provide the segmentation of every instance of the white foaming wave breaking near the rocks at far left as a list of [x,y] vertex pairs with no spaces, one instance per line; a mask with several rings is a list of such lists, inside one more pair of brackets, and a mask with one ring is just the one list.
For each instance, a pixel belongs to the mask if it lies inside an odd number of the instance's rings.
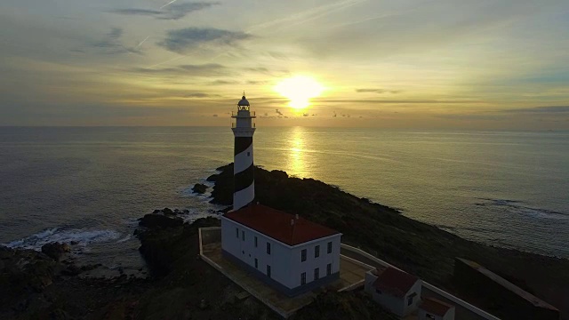
[[40,251],[44,244],[59,242],[87,246],[92,243],[104,243],[120,238],[115,230],[86,230],[49,228],[34,235],[4,244],[9,248],[33,249]]

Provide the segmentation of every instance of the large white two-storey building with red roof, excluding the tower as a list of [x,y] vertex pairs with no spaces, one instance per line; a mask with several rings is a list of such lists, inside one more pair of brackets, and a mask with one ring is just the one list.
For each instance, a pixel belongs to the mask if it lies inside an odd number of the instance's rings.
[[251,204],[221,217],[223,255],[288,296],[340,276],[341,233]]

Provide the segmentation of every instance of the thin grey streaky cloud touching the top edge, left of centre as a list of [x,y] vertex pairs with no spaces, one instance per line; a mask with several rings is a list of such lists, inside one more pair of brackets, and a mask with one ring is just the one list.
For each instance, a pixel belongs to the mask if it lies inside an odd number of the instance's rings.
[[123,15],[149,16],[158,20],[180,20],[191,12],[204,10],[218,4],[220,3],[193,2],[183,4],[170,4],[168,6],[162,7],[160,10],[130,8],[115,9],[111,10],[110,12]]

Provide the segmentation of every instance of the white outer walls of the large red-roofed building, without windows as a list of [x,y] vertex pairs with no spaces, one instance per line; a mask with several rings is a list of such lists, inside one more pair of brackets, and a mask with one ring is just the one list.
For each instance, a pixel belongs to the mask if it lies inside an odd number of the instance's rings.
[[[239,230],[238,237],[236,237],[236,228]],[[245,240],[242,238],[243,231]],[[257,247],[254,246],[255,236],[257,236]],[[332,253],[327,251],[329,242],[332,242]],[[267,254],[267,243],[271,245],[270,254]],[[314,248],[317,245],[320,245],[320,255],[314,258]],[[223,250],[243,260],[252,268],[255,267],[256,258],[258,270],[265,275],[267,265],[271,266],[271,278],[289,289],[301,285],[302,272],[306,272],[307,284],[314,281],[315,268],[320,268],[320,278],[325,277],[328,263],[332,263],[332,274],[340,272],[340,234],[291,247],[252,228],[221,217],[221,246]],[[307,249],[306,261],[301,261],[303,249]]]

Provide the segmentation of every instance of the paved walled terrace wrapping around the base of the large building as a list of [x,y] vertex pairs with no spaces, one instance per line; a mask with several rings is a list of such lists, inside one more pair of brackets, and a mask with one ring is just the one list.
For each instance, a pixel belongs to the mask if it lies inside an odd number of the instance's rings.
[[220,228],[200,228],[199,242],[200,256],[204,261],[284,318],[309,305],[320,292],[325,290],[345,291],[364,285],[365,272],[373,269],[373,267],[362,262],[341,256],[340,279],[323,288],[290,298],[249,275],[232,261],[223,258],[221,255]]

